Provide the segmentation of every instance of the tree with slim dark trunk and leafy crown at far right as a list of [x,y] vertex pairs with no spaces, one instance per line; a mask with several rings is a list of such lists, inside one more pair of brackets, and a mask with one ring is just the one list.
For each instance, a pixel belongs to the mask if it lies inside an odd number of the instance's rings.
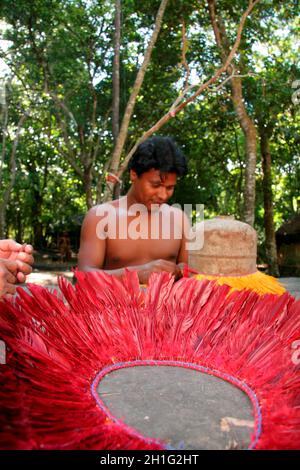
[[[290,13],[291,15],[291,13]],[[293,13],[291,15],[293,17]],[[276,29],[269,28],[269,37],[274,44]],[[292,33],[292,31],[291,31]],[[271,42],[271,44],[272,44]],[[276,46],[269,45],[273,53],[264,58],[264,70],[255,80],[247,83],[247,101],[254,109],[257,122],[262,162],[262,190],[264,204],[265,252],[268,272],[279,276],[274,223],[274,197],[272,185],[271,145],[280,115],[288,113],[291,103],[291,87],[297,75],[296,56],[293,53],[292,34],[278,37]],[[280,53],[279,53],[280,52]]]

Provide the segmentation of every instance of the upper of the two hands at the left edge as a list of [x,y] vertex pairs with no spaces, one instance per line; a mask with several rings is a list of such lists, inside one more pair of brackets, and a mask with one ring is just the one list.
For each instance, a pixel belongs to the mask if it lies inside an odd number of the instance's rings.
[[33,247],[28,244],[21,245],[14,240],[0,240],[0,259],[18,261],[18,282],[25,282],[26,276],[32,272],[34,262]]

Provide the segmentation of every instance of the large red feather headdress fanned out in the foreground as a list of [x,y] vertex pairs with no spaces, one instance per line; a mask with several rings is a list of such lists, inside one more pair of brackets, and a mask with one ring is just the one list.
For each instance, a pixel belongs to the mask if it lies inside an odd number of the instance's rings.
[[190,367],[244,390],[253,403],[251,447],[300,446],[300,301],[288,293],[231,292],[215,282],[153,274],[140,289],[77,273],[61,294],[29,285],[0,302],[0,448],[163,449],[112,419],[95,398],[109,370],[140,364]]

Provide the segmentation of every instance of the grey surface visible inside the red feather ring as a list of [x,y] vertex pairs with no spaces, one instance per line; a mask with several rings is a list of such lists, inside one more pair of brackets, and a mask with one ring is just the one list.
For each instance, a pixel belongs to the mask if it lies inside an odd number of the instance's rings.
[[116,370],[102,379],[98,394],[115,417],[175,449],[246,449],[254,429],[244,392],[182,367]]

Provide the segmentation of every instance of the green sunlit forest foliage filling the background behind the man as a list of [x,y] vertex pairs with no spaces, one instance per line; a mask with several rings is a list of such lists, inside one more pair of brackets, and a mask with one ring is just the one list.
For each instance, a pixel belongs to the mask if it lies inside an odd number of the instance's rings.
[[[244,0],[166,3],[121,162],[184,87],[204,82],[222,65],[248,6]],[[203,203],[205,217],[233,214],[249,221],[249,136],[242,125],[243,117],[249,119],[256,149],[254,226],[261,260],[270,264],[266,240],[272,246],[272,223],[277,229],[295,215],[300,198],[297,3],[262,0],[245,23],[228,71],[240,77],[244,116],[238,115],[233,79],[224,73],[158,131],[173,136],[189,159],[189,175],[179,182],[174,201]],[[1,0],[1,237],[47,248],[68,230],[78,248],[82,216],[105,197],[103,176],[160,4],[15,0],[12,5]],[[212,8],[218,15],[219,43]],[[113,112],[118,9],[119,116]],[[123,192],[127,186],[124,173]]]

